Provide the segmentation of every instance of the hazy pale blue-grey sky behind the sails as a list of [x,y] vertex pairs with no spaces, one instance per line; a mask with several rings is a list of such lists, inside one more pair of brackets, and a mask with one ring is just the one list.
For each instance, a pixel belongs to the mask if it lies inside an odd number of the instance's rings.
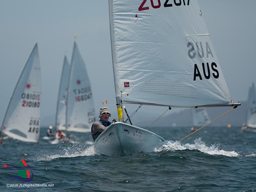
[[[232,100],[245,101],[249,86],[256,83],[256,0],[198,3]],[[42,76],[41,119],[55,116],[64,55],[70,62],[75,36],[92,84],[96,114],[100,102],[108,100],[112,116],[117,116],[107,0],[0,0],[0,5],[1,123],[35,43]],[[143,106],[140,110],[139,118],[151,111],[157,118],[166,109]]]

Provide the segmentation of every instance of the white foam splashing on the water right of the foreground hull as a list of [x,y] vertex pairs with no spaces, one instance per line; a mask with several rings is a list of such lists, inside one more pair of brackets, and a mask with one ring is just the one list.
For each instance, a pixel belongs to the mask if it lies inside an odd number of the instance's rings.
[[164,144],[156,149],[156,151],[169,151],[169,150],[200,150],[201,152],[210,154],[210,155],[223,155],[228,157],[237,157],[239,154],[235,151],[226,151],[218,149],[218,146],[211,145],[211,147],[206,146],[204,142],[199,139],[194,140],[194,144],[181,144],[179,141],[166,141]]

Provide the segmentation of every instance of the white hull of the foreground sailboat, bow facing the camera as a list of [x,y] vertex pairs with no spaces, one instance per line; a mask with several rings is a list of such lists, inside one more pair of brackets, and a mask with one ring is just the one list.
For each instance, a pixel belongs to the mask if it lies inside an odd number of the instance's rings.
[[164,141],[159,135],[125,123],[111,124],[94,142],[95,152],[120,156],[135,152],[151,152]]

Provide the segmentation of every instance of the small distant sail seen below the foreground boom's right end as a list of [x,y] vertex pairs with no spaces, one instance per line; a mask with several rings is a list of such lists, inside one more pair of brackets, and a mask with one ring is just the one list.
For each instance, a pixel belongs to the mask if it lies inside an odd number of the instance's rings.
[[193,126],[202,126],[211,121],[205,107],[192,108]]

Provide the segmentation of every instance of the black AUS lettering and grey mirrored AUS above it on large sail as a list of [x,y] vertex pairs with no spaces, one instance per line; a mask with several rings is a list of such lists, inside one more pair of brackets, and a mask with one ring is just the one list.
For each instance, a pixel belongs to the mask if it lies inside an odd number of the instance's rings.
[[[187,47],[189,48],[188,56],[190,59],[195,59],[196,56],[200,58],[214,59],[213,52],[211,51],[208,42],[189,42],[187,43]],[[203,80],[203,78],[208,80],[211,77],[218,79],[219,76],[218,65],[214,61],[194,64],[194,81]]]

